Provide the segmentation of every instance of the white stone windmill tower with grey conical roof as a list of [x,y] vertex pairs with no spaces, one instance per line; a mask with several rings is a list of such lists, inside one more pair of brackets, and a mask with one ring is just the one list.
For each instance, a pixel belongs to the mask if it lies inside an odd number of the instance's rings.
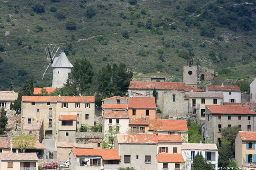
[[71,68],[73,67],[63,50],[59,57],[54,59],[52,67],[52,88],[61,88],[66,83],[68,79],[68,73],[71,72]]

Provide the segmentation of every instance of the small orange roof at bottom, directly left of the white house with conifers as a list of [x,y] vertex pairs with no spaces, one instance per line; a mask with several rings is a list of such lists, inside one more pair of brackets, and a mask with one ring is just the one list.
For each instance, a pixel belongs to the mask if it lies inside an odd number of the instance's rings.
[[157,155],[157,162],[182,163],[184,162],[184,159],[182,157],[182,154],[159,153]]

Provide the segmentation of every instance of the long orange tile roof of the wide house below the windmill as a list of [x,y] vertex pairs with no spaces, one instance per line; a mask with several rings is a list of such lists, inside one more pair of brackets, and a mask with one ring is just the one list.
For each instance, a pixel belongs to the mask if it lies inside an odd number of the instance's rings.
[[25,102],[77,102],[91,103],[94,102],[94,96],[22,96]]

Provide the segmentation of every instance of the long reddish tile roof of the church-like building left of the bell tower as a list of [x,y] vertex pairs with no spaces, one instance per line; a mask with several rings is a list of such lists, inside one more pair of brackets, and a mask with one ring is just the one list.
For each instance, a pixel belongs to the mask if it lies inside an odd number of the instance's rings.
[[130,82],[129,89],[184,90],[182,82]]

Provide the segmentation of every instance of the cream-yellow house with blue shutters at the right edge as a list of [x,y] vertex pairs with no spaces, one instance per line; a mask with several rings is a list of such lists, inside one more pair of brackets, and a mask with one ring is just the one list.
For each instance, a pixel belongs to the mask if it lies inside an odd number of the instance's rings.
[[256,132],[239,131],[235,139],[237,165],[246,170],[256,168]]

